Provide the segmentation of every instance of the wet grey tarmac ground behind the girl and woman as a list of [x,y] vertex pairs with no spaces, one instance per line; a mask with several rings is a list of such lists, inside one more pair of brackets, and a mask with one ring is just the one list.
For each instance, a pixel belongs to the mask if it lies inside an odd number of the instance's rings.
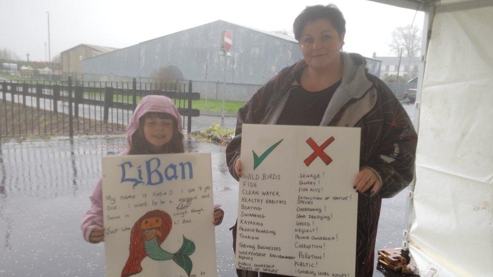
[[[413,112],[412,105],[405,107]],[[236,218],[238,186],[227,172],[224,146],[196,140],[186,145],[190,152],[212,153],[214,202],[226,212],[216,228],[217,265],[219,276],[234,276],[228,228]],[[1,145],[0,276],[104,275],[104,245],[85,242],[79,224],[100,176],[101,156],[122,146],[122,137]],[[405,204],[405,192],[383,200],[376,249],[401,245]]]

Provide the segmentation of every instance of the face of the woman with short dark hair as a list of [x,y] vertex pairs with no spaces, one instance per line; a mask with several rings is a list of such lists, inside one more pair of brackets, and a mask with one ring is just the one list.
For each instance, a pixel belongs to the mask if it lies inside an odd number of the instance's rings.
[[344,33],[339,36],[332,23],[324,18],[307,22],[300,37],[303,58],[314,69],[338,66],[343,44]]

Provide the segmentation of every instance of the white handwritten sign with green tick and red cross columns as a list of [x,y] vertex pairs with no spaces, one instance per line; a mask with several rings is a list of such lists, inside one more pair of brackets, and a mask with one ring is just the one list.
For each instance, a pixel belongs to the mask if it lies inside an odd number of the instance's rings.
[[243,124],[236,268],[355,275],[360,129]]

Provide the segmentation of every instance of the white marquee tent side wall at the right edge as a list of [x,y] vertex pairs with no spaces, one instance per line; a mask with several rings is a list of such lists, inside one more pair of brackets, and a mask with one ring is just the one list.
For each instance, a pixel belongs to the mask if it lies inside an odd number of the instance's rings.
[[421,276],[493,276],[493,1],[372,1],[425,12],[428,33],[405,247]]

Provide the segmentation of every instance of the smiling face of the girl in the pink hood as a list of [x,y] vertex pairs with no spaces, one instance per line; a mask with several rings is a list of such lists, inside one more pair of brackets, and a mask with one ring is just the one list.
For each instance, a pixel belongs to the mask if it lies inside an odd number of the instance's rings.
[[159,152],[173,139],[173,120],[146,118],[142,130],[145,140]]

